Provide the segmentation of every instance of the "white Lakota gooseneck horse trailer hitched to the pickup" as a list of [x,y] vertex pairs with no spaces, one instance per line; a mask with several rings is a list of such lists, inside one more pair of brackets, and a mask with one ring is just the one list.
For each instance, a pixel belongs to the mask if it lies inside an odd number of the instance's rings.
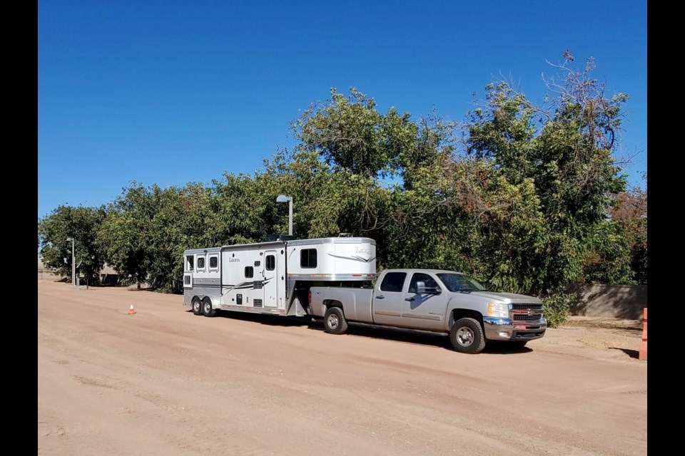
[[183,252],[183,305],[217,310],[313,315],[311,286],[362,286],[376,275],[376,242],[326,237],[237,244]]

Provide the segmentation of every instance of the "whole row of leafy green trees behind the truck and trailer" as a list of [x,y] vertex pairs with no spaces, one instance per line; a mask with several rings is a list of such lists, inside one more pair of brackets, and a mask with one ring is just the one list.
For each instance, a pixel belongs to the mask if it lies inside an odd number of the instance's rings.
[[295,237],[371,237],[380,269],[464,271],[562,307],[568,284],[646,283],[646,191],[626,189],[617,159],[627,96],[605,95],[592,59],[577,71],[563,57],[541,104],[494,81],[463,121],[380,113],[357,88],[332,88],[291,123],[295,147],[254,175],[131,182],[106,207],[56,208],[39,220],[44,262],[71,274],[71,237],[83,274],[106,262],[132,283],[178,289],[184,249],[285,232],[284,194]]

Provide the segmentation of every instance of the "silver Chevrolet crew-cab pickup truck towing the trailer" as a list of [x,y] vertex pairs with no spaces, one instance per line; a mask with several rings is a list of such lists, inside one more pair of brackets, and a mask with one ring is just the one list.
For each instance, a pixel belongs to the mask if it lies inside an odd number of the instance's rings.
[[489,341],[522,347],[547,329],[539,299],[437,269],[387,269],[372,289],[313,286],[309,306],[328,333],[345,333],[348,321],[435,331],[461,353],[480,353]]

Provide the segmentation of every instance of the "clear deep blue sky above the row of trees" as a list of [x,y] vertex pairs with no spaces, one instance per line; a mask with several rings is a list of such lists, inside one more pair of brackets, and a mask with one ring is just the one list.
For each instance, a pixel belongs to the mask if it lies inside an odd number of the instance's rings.
[[351,86],[464,120],[488,83],[544,94],[569,49],[626,93],[621,153],[647,161],[646,0],[38,2],[38,216],[143,185],[252,175],[290,121]]

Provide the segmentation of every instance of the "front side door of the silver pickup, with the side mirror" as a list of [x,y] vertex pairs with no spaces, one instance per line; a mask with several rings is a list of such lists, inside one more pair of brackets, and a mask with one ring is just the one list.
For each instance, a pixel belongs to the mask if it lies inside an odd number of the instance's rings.
[[[418,282],[423,282],[426,289],[437,290],[435,293],[417,293]],[[445,327],[447,311],[447,293],[440,287],[437,279],[424,272],[415,272],[409,282],[407,292],[402,296],[402,319],[404,326],[418,329],[442,329]]]

